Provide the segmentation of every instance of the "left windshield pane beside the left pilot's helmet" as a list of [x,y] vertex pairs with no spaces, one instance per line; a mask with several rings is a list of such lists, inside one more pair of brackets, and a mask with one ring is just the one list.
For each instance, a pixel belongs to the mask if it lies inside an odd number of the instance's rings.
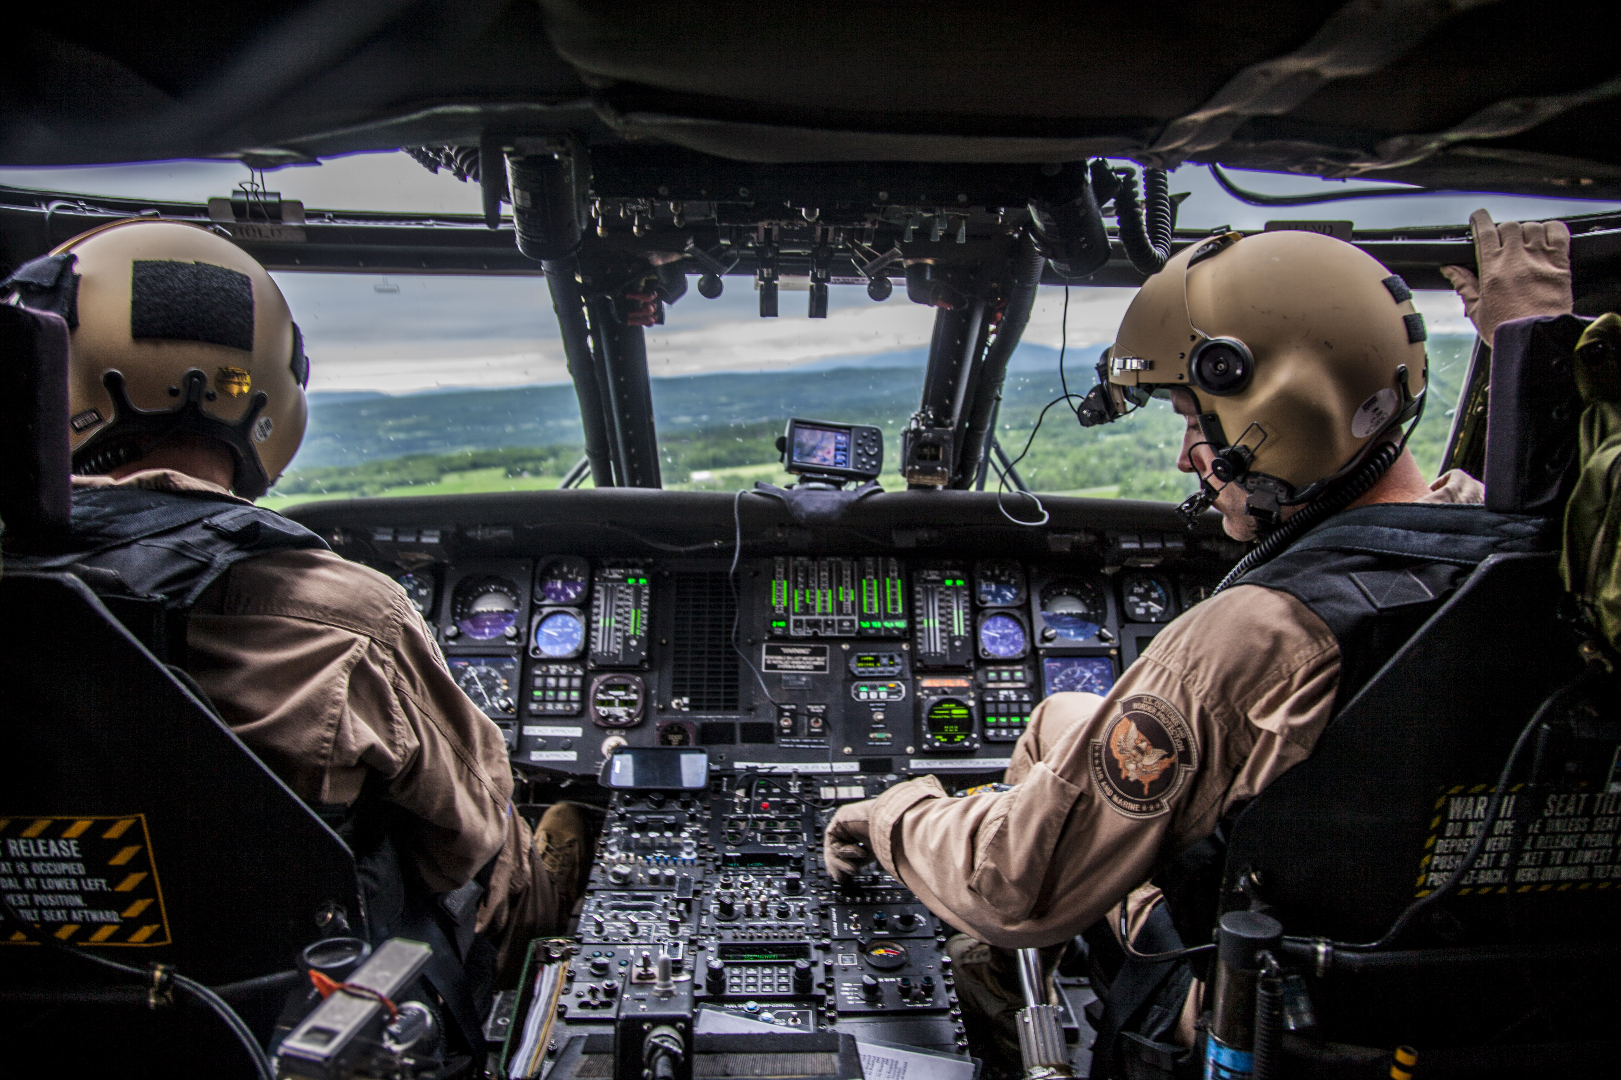
[[276,274],[310,355],[310,427],[259,500],[556,487],[580,406],[540,277]]

